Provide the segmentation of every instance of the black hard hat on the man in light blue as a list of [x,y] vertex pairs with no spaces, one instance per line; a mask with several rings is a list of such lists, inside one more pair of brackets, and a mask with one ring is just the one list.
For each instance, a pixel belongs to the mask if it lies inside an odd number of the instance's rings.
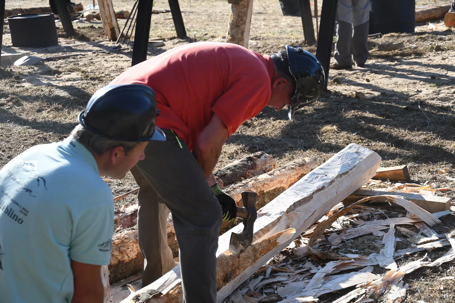
[[102,137],[126,141],[165,141],[155,126],[158,115],[153,89],[144,84],[108,85],[91,96],[79,123]]

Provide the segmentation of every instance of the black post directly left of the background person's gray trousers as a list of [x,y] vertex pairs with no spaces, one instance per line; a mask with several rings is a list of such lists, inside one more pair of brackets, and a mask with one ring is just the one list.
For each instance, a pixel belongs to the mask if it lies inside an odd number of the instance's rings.
[[325,87],[329,79],[330,57],[332,56],[332,43],[334,41],[335,16],[337,13],[338,0],[322,1],[321,22],[319,26],[318,48],[316,57],[324,66]]

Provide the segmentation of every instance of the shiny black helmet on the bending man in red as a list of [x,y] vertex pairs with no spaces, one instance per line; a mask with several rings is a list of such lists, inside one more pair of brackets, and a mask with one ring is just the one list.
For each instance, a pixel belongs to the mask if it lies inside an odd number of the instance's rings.
[[288,60],[280,53],[272,55],[272,59],[279,70],[294,80],[294,94],[289,106],[289,119],[292,119],[297,109],[319,98],[325,85],[325,73],[319,60],[300,45],[286,45],[285,48]]

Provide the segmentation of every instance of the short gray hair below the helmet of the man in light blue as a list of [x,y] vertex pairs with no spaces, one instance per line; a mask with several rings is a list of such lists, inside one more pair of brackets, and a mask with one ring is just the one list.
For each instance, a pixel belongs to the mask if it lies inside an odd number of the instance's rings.
[[71,137],[79,141],[86,149],[98,155],[104,154],[117,146],[123,147],[125,149],[125,154],[127,154],[139,144],[139,142],[125,142],[101,137],[89,132],[81,124],[77,124],[73,129]]

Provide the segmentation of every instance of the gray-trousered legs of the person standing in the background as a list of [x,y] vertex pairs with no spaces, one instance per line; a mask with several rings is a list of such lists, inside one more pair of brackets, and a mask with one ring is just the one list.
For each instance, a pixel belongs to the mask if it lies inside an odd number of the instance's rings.
[[338,65],[362,65],[368,58],[369,0],[338,1],[337,42],[334,58]]

